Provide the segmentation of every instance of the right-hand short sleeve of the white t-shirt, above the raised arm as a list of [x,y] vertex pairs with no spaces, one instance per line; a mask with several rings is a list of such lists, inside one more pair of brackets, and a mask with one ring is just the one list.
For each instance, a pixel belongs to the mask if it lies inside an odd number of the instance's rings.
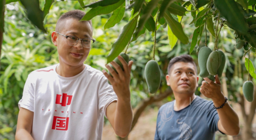
[[106,109],[110,103],[112,103],[113,101],[117,101],[117,96],[113,90],[112,85],[108,84],[108,80],[104,75],[100,78],[98,101],[99,110],[103,110],[104,115],[107,118]]

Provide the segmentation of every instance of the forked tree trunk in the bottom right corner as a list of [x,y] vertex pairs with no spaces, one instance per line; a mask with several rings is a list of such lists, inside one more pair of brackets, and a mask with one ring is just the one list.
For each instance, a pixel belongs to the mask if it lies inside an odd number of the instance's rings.
[[238,94],[238,96],[241,98],[241,101],[239,102],[239,104],[241,105],[241,110],[242,110],[242,114],[243,114],[243,118],[244,118],[244,127],[242,130],[242,139],[246,139],[246,140],[250,140],[253,139],[252,136],[252,130],[251,130],[251,124],[252,124],[252,120],[254,118],[255,115],[255,109],[256,109],[256,87],[254,86],[254,100],[251,102],[250,105],[250,112],[249,114],[246,114],[245,112],[245,100],[244,100],[244,96],[241,95],[240,93]]

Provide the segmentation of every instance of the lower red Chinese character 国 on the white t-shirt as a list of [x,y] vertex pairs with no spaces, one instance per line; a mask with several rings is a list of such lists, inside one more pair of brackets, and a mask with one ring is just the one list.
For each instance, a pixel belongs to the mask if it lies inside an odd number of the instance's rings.
[[68,130],[68,117],[53,116],[52,129]]

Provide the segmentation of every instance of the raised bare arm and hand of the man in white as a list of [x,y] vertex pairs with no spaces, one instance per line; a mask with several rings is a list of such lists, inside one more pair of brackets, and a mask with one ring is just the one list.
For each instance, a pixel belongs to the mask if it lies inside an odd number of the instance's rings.
[[113,102],[107,107],[106,115],[115,134],[120,137],[125,137],[130,132],[132,123],[132,109],[130,103],[130,71],[132,61],[127,64],[123,57],[118,56],[118,58],[124,66],[124,71],[114,61],[110,63],[115,67],[118,74],[115,73],[114,69],[109,65],[106,65],[106,67],[113,77],[103,70],[103,74],[112,84],[117,96],[117,102]]

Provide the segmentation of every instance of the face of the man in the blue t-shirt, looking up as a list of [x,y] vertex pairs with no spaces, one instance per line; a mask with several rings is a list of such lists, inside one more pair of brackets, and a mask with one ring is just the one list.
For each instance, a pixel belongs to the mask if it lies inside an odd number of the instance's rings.
[[192,63],[176,62],[166,75],[167,85],[178,94],[193,94],[198,87],[198,77]]

